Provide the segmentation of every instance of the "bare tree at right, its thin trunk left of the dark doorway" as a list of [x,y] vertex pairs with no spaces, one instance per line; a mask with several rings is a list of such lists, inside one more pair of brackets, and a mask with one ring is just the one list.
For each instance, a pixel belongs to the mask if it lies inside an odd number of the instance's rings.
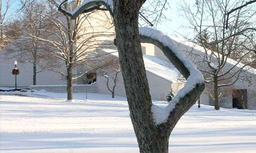
[[196,33],[197,40],[193,42],[204,49],[203,54],[192,50],[190,55],[200,59],[196,62],[204,73],[205,82],[214,88],[211,91],[216,110],[220,109],[219,92],[222,88],[231,86],[238,80],[249,79],[246,71],[249,69],[248,65],[253,63],[248,59],[255,51],[255,8],[232,11],[232,16],[229,16],[226,23],[229,10],[244,3],[245,1],[202,0],[198,1],[196,8],[187,5],[184,7],[190,28]]

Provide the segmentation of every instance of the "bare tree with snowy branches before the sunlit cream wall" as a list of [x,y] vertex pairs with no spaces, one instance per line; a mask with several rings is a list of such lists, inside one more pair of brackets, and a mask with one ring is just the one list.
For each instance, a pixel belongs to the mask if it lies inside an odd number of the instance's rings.
[[[65,3],[65,9],[69,10],[77,6],[79,3]],[[94,13],[96,13],[94,11]],[[42,13],[51,26],[52,30],[44,29],[38,30],[40,32],[47,33],[50,35],[50,39],[43,39],[36,37],[38,41],[45,42],[47,47],[51,48],[50,55],[54,57],[57,61],[62,61],[65,63],[65,69],[60,66],[47,66],[47,69],[60,73],[63,77],[67,79],[67,99],[73,99],[73,82],[87,74],[90,71],[95,71],[99,65],[91,64],[92,61],[97,60],[101,54],[97,53],[97,49],[100,49],[99,44],[103,42],[107,37],[113,36],[111,27],[105,27],[100,32],[92,32],[95,27],[92,27],[90,21],[93,19],[92,13],[82,14],[72,19],[69,16],[63,16],[59,13],[54,13],[53,16],[49,14]],[[100,19],[98,19],[99,21]],[[103,22],[109,22],[108,19]],[[105,25],[109,25],[106,23]],[[32,35],[31,35],[32,36]],[[74,72],[74,68],[78,65],[84,65],[87,67],[86,71]]]

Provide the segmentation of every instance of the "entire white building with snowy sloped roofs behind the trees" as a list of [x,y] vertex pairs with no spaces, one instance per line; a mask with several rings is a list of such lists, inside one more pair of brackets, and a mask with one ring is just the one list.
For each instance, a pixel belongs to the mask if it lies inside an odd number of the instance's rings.
[[[98,14],[97,18],[100,19],[101,15]],[[105,22],[105,21],[104,21]],[[99,25],[99,20],[97,22],[91,22],[91,24]],[[94,27],[95,27],[94,26]],[[113,31],[111,29],[110,31]],[[176,37],[172,37],[174,41],[178,44],[181,50],[184,51],[184,54],[193,62],[198,62],[198,59],[195,56],[191,56],[188,53],[195,53],[199,55],[204,54],[204,50],[202,47],[195,45],[193,43],[187,42],[182,39],[178,39]],[[15,43],[15,42],[14,42]],[[104,49],[104,52],[113,52],[113,50]],[[13,68],[13,63],[15,60],[18,60],[19,57],[10,58],[8,54],[6,54],[6,50],[0,51],[0,87],[13,87],[14,86],[14,75],[12,75],[11,71]],[[156,100],[166,100],[166,95],[170,90],[173,90],[174,93],[183,87],[184,83],[178,80],[179,72],[173,65],[168,62],[168,59],[164,56],[161,50],[152,45],[152,44],[144,44],[142,43],[142,53],[143,59],[147,74],[148,84],[150,86],[150,93],[153,99]],[[118,58],[117,54],[112,54]],[[231,59],[227,61],[226,66],[230,67],[234,63]],[[237,67],[239,67],[238,65]],[[18,62],[17,67],[20,70],[19,75],[17,76],[17,86],[18,87],[26,87],[29,88],[33,84],[33,65],[31,63],[20,63]],[[38,69],[40,69],[38,67]],[[76,67],[74,71],[84,71],[84,67]],[[221,106],[225,108],[233,108],[237,103],[236,101],[241,101],[247,105],[248,109],[256,109],[256,70],[250,68],[248,71],[252,76],[251,83],[245,81],[237,81],[230,88],[226,90],[232,90],[229,92],[229,95],[222,102]],[[93,84],[93,86],[82,86],[81,84],[85,84],[88,76],[85,75],[85,78],[78,79],[74,84],[77,86],[74,88],[74,92],[85,91],[82,88],[93,88],[87,91],[98,92],[103,94],[111,94],[111,92],[106,87],[106,80],[100,75],[97,75],[97,83]],[[32,87],[34,89],[46,89],[48,91],[55,92],[63,92],[66,90],[66,79],[63,78],[59,73],[44,70],[37,74],[37,86]],[[44,85],[44,86],[40,86]],[[48,86],[51,85],[51,86]],[[56,86],[54,86],[56,85]],[[58,85],[58,86],[57,86]],[[59,86],[63,85],[63,86]],[[78,88],[79,86],[79,88]],[[239,97],[233,97],[232,93],[237,91],[239,93]],[[123,85],[122,74],[118,74],[118,83],[115,89],[115,95],[125,96],[125,90]],[[204,90],[201,97],[201,104],[205,105],[213,105],[212,98],[207,95],[207,92]]]

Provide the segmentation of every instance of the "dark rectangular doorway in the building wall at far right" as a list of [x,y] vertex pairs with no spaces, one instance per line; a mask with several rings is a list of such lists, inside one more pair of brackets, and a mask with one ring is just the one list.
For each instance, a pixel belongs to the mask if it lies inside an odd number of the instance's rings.
[[232,92],[233,108],[247,109],[247,90],[235,89]]

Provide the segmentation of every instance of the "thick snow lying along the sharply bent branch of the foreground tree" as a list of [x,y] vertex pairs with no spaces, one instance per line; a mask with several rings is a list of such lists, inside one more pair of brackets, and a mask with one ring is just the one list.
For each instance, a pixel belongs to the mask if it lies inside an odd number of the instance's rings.
[[179,102],[179,99],[181,97],[184,97],[186,93],[194,89],[196,84],[203,83],[204,78],[202,73],[196,68],[196,66],[191,61],[189,61],[183,55],[182,51],[179,49],[175,41],[173,41],[168,35],[158,30],[154,30],[152,28],[139,28],[139,33],[142,36],[147,36],[155,40],[158,40],[163,45],[169,47],[174,52],[174,54],[179,58],[179,60],[185,65],[185,67],[188,69],[190,73],[184,87],[181,90],[179,90],[174,99],[170,101],[170,104],[166,108],[159,108],[156,105],[152,106],[153,118],[156,125],[158,125],[167,121],[169,113],[173,111],[176,104]]

